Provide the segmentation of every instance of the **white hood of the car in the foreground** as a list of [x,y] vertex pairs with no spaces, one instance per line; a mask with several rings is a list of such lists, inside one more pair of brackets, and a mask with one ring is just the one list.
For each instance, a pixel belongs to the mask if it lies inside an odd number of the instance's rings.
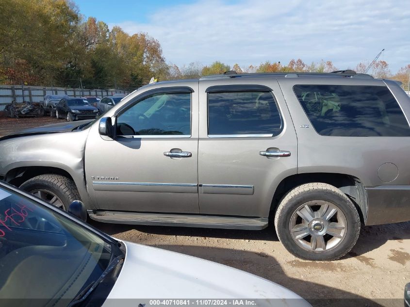
[[[149,305],[150,299],[262,299],[257,306],[310,307],[294,292],[228,266],[124,242],[124,265],[104,307]],[[229,303],[228,303],[229,304]],[[175,304],[171,304],[175,305]],[[144,305],[143,305],[144,306]]]

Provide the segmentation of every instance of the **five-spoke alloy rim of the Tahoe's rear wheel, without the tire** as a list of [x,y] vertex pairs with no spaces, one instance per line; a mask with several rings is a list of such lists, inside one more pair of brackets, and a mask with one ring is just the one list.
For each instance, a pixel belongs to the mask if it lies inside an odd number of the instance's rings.
[[343,241],[347,223],[338,207],[327,201],[316,200],[295,210],[289,229],[299,247],[320,253],[335,248]]

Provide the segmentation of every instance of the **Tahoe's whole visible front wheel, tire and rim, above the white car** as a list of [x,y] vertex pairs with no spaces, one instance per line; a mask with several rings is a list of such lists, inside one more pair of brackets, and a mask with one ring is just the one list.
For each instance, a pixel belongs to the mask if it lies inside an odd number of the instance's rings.
[[68,210],[73,200],[81,200],[74,181],[62,175],[39,175],[24,182],[20,189],[63,210]]

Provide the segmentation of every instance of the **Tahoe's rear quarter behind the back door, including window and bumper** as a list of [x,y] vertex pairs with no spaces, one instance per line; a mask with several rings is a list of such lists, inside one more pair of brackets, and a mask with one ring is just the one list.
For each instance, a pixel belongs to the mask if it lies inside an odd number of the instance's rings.
[[409,219],[409,97],[372,78],[279,80],[298,136],[298,173],[337,173],[367,189],[366,225]]

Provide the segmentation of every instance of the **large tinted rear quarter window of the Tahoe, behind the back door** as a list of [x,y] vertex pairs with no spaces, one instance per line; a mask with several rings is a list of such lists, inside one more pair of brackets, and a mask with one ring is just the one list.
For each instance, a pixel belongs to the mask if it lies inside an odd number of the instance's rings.
[[295,85],[314,129],[328,136],[410,136],[409,124],[385,86]]

